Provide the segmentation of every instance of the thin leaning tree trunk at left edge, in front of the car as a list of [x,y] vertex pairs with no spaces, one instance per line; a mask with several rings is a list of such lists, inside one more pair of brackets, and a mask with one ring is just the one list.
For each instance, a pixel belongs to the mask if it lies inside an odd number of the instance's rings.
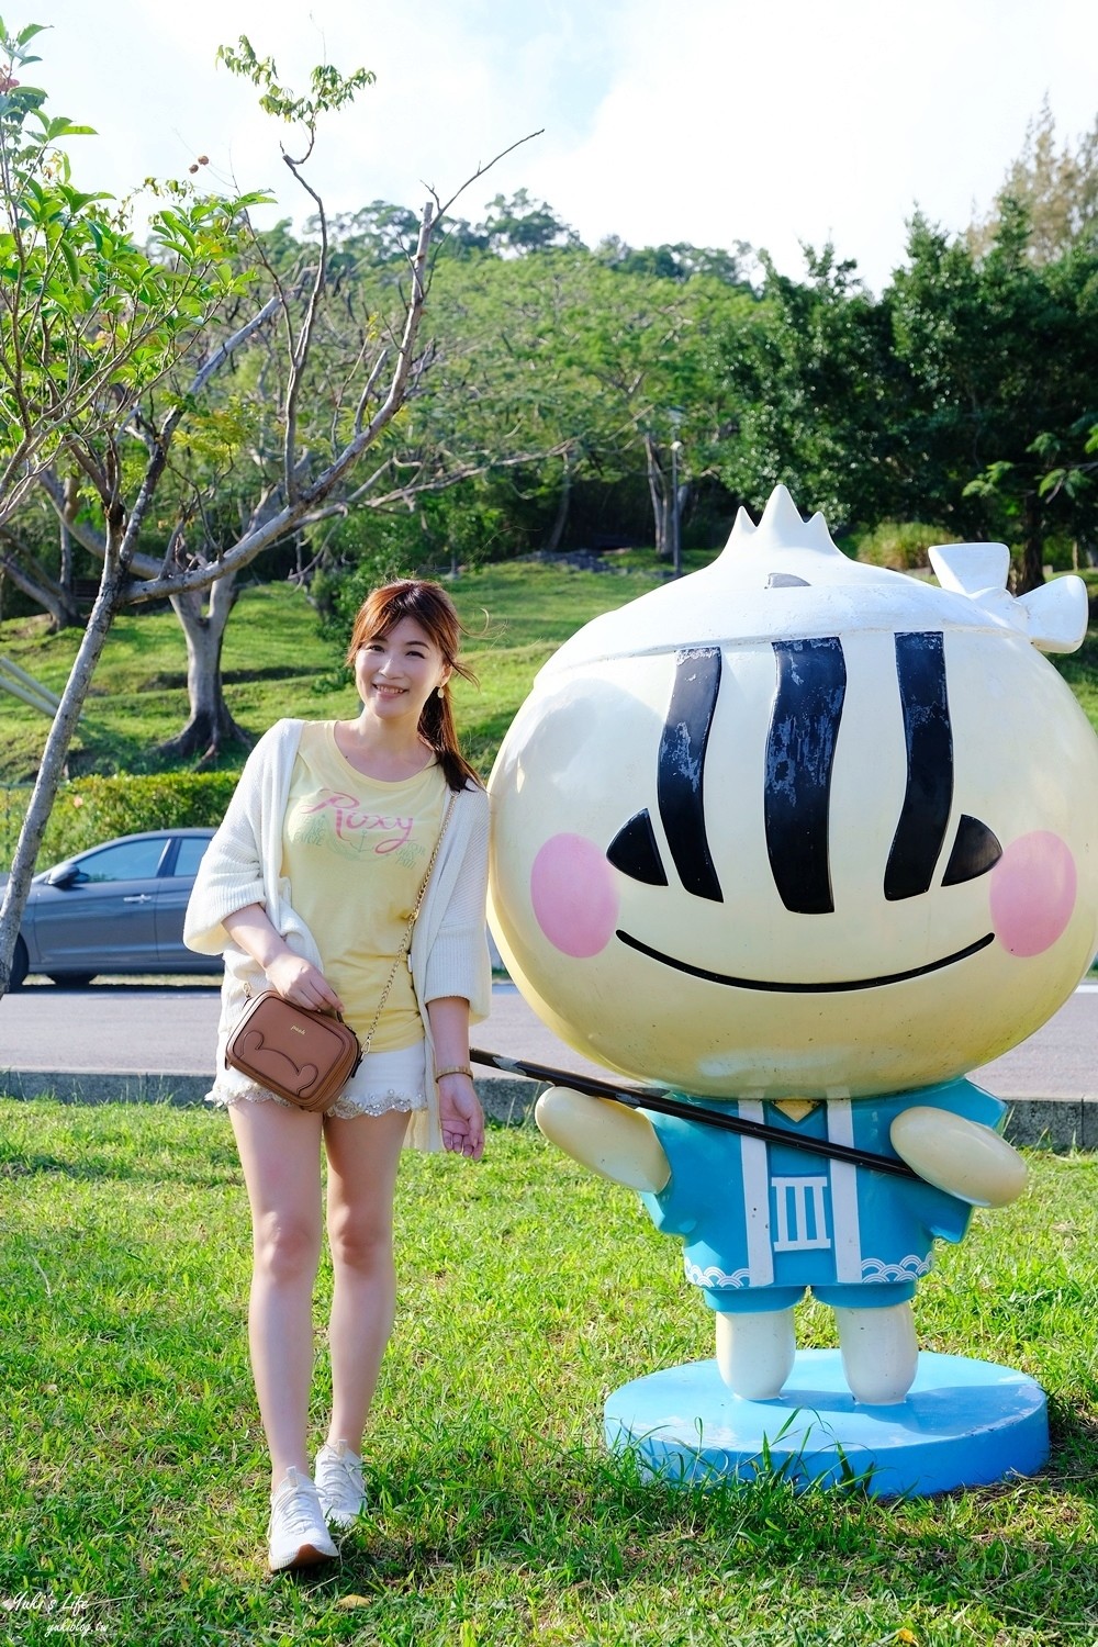
[[[120,540],[120,537],[122,525],[117,524],[115,542]],[[69,670],[69,679],[64,685],[64,692],[61,693],[61,707],[53,718],[49,736],[46,738],[46,748],[43,749],[38,777],[35,779],[31,799],[26,807],[26,817],[23,819],[23,828],[20,830],[20,838],[15,845],[12,873],[8,875],[7,886],[3,888],[3,901],[0,903],[0,996],[8,991],[15,940],[20,932],[20,922],[23,919],[26,894],[35,873],[35,863],[38,861],[38,848],[41,847],[41,838],[46,832],[49,812],[58,794],[58,784],[61,782],[61,774],[64,771],[64,761],[69,753],[69,744],[72,743],[72,733],[76,731],[81,710],[84,708],[84,700],[87,698],[87,688],[92,684],[95,665],[99,664],[107,634],[110,632],[110,624],[114,623],[120,588],[122,572],[119,567],[119,555],[109,552],[104,565],[104,576],[99,585],[99,595],[87,619],[87,628],[84,629],[84,639],[81,641],[72,669]]]

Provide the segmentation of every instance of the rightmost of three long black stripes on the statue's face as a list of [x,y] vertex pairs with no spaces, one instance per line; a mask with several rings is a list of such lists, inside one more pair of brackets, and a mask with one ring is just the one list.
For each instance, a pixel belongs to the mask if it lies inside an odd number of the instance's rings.
[[896,636],[907,792],[884,871],[889,901],[930,889],[953,805],[953,731],[940,632]]

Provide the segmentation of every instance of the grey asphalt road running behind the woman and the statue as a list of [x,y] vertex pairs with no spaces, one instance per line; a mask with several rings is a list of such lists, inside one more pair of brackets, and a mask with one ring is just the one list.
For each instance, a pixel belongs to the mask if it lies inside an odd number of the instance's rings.
[[[30,983],[0,1001],[0,1072],[209,1075],[217,988],[194,978],[102,978],[69,990]],[[474,1041],[494,1052],[598,1072],[548,1031],[510,983]],[[1037,1034],[975,1072],[1003,1099],[1098,1099],[1098,983],[1083,983]],[[479,1071],[477,1079],[487,1071]]]

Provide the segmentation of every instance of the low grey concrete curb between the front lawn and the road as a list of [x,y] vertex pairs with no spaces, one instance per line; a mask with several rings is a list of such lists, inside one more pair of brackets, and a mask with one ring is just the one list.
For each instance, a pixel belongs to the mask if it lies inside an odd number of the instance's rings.
[[[0,1072],[0,1097],[58,1099],[61,1103],[202,1103],[209,1075],[76,1074],[72,1071],[8,1069]],[[484,1113],[519,1127],[542,1090],[535,1080],[489,1077],[477,1080]],[[1098,1150],[1098,1094],[1057,1099],[1007,1099],[1006,1136],[1011,1143],[1052,1150]]]

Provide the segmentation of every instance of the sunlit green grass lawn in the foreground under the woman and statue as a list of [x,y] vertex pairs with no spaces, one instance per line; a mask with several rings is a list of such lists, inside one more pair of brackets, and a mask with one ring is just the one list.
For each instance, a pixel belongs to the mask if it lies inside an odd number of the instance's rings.
[[[147,1647],[1098,1639],[1086,1156],[1034,1156],[1026,1197],[976,1214],[915,1306],[925,1347],[1042,1382],[1050,1466],[902,1504],[640,1482],[603,1453],[606,1393],[711,1354],[675,1245],[530,1128],[494,1128],[481,1166],[408,1156],[372,1510],[339,1566],[272,1579],[224,1117],[8,1100],[0,1122],[0,1640],[82,1622]],[[802,1341],[830,1334],[807,1308]],[[318,1332],[318,1431],[324,1354]]]

